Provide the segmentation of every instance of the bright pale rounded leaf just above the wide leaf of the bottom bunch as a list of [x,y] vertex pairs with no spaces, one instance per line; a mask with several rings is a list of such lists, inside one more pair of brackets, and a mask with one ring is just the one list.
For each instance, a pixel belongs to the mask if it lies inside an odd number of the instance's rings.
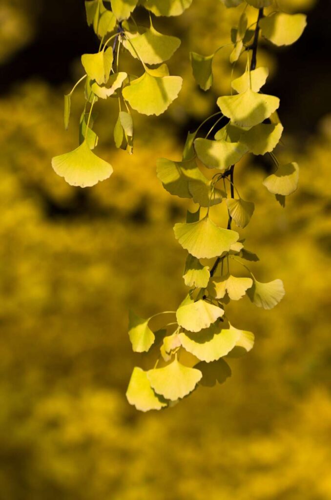
[[176,312],[177,323],[185,330],[200,331],[224,314],[224,310],[205,300],[197,300],[178,307]]

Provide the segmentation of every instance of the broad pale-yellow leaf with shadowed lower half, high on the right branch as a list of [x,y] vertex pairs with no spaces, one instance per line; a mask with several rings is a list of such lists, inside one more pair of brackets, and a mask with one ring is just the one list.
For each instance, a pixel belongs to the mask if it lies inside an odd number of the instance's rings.
[[278,97],[247,88],[237,95],[218,97],[221,112],[239,126],[254,126],[268,118],[279,106]]

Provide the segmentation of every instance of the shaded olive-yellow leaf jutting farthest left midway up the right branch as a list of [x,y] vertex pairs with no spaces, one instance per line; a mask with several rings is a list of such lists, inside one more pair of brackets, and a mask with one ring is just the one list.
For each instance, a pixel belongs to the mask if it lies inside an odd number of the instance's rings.
[[170,194],[175,194],[181,198],[191,197],[188,189],[189,179],[198,179],[202,182],[206,180],[198,169],[195,159],[172,161],[166,158],[159,158],[156,161],[156,173],[164,188]]

